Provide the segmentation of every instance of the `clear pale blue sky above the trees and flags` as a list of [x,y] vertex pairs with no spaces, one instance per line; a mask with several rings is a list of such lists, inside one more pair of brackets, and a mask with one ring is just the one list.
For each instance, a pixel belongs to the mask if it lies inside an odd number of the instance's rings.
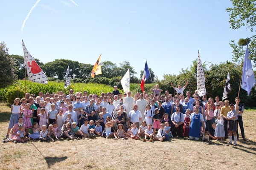
[[22,30],[36,2],[0,1],[0,42],[9,54],[23,56],[23,39],[44,63],[71,59],[94,65],[102,54],[102,61],[116,65],[129,61],[140,77],[147,60],[163,79],[189,68],[198,50],[202,62],[232,60],[230,40],[251,36],[230,28],[230,0],[41,0]]

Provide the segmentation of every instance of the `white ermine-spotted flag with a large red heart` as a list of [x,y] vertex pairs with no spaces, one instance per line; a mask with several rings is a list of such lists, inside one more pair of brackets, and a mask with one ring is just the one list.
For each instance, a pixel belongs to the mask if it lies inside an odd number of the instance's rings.
[[38,63],[30,55],[29,51],[26,49],[24,45],[23,40],[21,42],[22,42],[23,52],[24,52],[24,66],[26,67],[29,80],[31,80],[32,82],[47,84],[48,79],[44,71],[42,71]]

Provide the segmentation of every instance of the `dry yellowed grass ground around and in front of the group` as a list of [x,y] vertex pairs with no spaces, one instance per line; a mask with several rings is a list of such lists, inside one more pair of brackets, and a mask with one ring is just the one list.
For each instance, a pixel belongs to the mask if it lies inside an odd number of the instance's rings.
[[[0,104],[0,111],[0,138],[3,138],[10,109]],[[255,111],[245,111],[243,119],[249,142],[239,140],[236,147],[186,138],[152,143],[103,138],[92,141],[2,143],[0,169],[251,169],[256,160]]]

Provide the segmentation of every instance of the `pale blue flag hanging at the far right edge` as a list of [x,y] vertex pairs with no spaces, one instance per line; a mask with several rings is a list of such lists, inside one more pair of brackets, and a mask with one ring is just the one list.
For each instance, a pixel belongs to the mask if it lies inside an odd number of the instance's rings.
[[255,77],[253,74],[253,67],[251,60],[249,58],[248,45],[244,55],[244,65],[243,65],[243,75],[242,75],[242,84],[241,88],[247,91],[248,96],[250,95],[250,91],[255,84]]

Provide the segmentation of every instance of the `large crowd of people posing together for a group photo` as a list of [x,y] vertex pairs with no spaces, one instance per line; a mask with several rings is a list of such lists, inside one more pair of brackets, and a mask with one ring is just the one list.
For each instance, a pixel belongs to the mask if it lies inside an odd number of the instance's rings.
[[[172,83],[171,83],[172,85]],[[236,104],[219,97],[207,100],[195,91],[186,91],[188,85],[172,87],[177,94],[169,91],[161,95],[159,85],[151,90],[120,93],[114,86],[113,92],[88,94],[87,91],[69,94],[63,91],[53,94],[26,93],[22,99],[16,98],[11,107],[9,127],[3,142],[26,142],[32,139],[52,142],[64,138],[79,140],[101,136],[106,139],[141,139],[168,141],[173,137],[188,137],[199,140],[209,134],[209,138],[222,142],[229,138],[229,144],[236,145],[238,123],[244,140],[242,113],[244,105],[239,97]],[[11,134],[9,136],[9,134]]]

